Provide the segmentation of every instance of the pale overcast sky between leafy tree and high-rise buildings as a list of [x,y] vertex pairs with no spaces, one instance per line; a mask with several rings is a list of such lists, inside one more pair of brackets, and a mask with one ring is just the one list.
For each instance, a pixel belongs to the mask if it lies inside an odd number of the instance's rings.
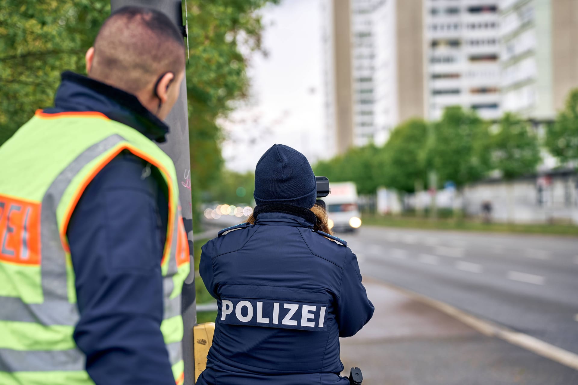
[[323,155],[323,47],[319,0],[267,6],[263,46],[250,59],[251,99],[223,122],[227,167],[254,170],[271,145],[287,144],[310,161]]

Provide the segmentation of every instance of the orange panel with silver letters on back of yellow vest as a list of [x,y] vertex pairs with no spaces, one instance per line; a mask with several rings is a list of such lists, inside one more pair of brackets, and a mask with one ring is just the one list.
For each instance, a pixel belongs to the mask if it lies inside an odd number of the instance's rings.
[[40,264],[40,203],[0,194],[0,262]]

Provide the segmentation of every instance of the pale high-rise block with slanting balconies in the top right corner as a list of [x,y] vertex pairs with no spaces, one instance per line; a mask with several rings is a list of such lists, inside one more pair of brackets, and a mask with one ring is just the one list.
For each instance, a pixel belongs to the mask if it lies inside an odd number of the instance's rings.
[[503,0],[500,8],[503,110],[554,118],[578,87],[578,2]]

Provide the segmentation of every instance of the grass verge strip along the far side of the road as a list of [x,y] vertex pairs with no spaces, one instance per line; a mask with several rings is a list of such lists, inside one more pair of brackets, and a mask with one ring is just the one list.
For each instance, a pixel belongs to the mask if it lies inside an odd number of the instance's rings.
[[364,225],[405,227],[426,230],[491,231],[495,233],[552,234],[578,236],[576,225],[521,225],[517,223],[482,223],[468,219],[407,218],[404,216],[364,215]]

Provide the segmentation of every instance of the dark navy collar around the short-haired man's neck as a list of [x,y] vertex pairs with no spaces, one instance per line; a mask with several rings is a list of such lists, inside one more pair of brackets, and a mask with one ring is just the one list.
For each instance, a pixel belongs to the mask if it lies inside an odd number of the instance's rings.
[[45,113],[97,111],[110,119],[138,130],[157,142],[164,142],[169,127],[136,98],[98,80],[66,71],[54,98],[54,107]]

